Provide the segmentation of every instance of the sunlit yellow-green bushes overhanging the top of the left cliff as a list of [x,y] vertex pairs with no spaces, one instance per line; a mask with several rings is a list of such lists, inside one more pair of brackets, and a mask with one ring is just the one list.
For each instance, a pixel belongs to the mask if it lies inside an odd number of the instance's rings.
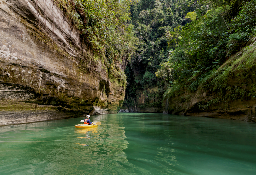
[[136,37],[130,20],[129,0],[56,0],[56,4],[80,31],[85,43],[108,63],[131,58]]

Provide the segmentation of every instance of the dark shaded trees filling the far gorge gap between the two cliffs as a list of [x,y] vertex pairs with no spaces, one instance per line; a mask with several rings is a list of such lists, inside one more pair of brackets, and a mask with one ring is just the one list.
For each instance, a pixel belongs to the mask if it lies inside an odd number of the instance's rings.
[[[168,63],[169,55],[179,42],[181,26],[188,23],[185,14],[194,10],[191,0],[138,0],[131,4],[131,23],[139,40],[129,66],[131,74],[126,74],[128,98],[137,99],[135,92],[140,90],[147,94],[147,100],[153,100],[149,103],[145,98],[145,104],[158,106],[162,103],[165,88],[172,84],[173,68]],[[157,98],[148,92],[155,87]]]

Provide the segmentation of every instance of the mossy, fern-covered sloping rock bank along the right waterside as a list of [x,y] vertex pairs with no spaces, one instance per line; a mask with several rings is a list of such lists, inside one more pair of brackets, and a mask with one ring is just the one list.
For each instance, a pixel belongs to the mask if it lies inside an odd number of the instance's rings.
[[[197,91],[183,89],[181,95],[165,98],[165,113],[256,122],[255,41],[256,37],[199,85]],[[218,88],[214,90],[209,84]]]

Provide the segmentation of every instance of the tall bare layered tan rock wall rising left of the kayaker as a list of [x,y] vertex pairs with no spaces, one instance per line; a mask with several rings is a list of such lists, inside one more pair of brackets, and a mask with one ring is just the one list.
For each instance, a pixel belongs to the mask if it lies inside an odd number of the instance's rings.
[[124,90],[52,0],[0,0],[0,125],[116,113]]

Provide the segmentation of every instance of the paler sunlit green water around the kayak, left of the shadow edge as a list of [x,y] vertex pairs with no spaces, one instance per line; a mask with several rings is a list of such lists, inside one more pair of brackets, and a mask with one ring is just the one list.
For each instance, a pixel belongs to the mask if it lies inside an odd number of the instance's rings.
[[75,128],[81,118],[0,127],[0,174],[126,174],[124,123],[112,117],[93,116],[97,128]]

